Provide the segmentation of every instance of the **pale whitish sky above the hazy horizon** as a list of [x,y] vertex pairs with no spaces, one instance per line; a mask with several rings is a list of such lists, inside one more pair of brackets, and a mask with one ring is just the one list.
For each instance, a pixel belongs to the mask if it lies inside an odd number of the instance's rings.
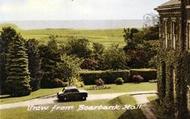
[[0,0],[0,21],[143,19],[168,0]]

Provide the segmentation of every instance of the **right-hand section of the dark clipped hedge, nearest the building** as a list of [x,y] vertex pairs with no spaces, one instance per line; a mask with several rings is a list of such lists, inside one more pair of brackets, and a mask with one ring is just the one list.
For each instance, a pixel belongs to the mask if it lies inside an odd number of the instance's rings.
[[156,69],[131,69],[130,70],[130,79],[133,81],[134,75],[140,75],[143,77],[143,81],[149,81],[157,79]]

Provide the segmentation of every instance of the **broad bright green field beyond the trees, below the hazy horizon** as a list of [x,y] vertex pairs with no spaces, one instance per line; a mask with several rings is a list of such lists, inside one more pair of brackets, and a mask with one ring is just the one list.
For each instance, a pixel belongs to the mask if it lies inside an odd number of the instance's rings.
[[50,35],[57,36],[58,43],[66,42],[70,37],[87,38],[91,42],[98,42],[103,45],[110,46],[111,44],[119,44],[124,46],[123,29],[105,29],[105,30],[83,30],[83,29],[33,29],[22,30],[15,25],[0,25],[0,29],[3,26],[12,26],[17,29],[21,35],[26,38],[35,38],[40,43],[47,43]]

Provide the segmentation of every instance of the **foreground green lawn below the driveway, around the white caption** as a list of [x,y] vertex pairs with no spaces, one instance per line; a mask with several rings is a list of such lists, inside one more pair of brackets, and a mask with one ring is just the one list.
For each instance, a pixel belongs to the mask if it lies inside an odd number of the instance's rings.
[[[79,105],[97,106],[97,105],[135,105],[135,100],[128,96],[117,97],[113,100],[98,100],[85,102],[69,102],[59,103],[59,106],[74,106]],[[50,107],[53,105],[50,105]],[[51,108],[47,111],[27,111],[27,108],[16,108],[1,110],[1,119],[145,119],[140,110],[118,110],[118,111],[53,111]],[[19,115],[19,116],[18,116]]]

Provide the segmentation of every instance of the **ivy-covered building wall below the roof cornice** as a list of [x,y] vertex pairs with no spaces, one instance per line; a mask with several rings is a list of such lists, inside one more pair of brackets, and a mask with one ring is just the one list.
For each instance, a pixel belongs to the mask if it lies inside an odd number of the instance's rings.
[[[187,13],[190,22],[190,11]],[[187,28],[187,36],[189,30]],[[168,113],[167,118],[181,117],[185,115],[187,106],[190,109],[190,95],[184,88],[186,81],[190,81],[190,47],[187,47],[184,53],[180,52],[182,47],[180,31],[180,12],[177,10],[160,11],[161,48],[158,92],[160,104],[166,108],[163,110]],[[189,42],[190,39],[187,37],[187,46]]]

